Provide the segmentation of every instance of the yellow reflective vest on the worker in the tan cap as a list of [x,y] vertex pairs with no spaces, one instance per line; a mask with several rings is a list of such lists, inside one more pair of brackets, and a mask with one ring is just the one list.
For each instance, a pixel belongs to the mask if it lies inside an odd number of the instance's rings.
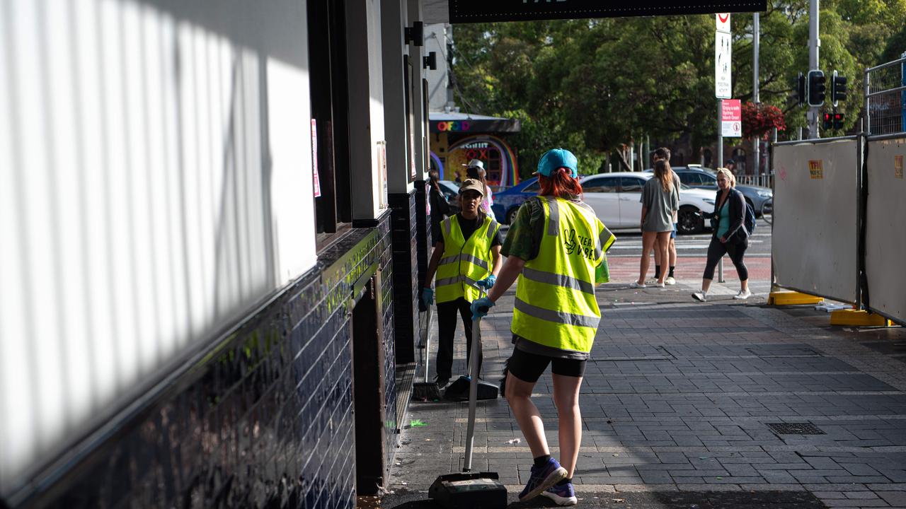
[[470,303],[476,300],[480,296],[476,283],[490,275],[494,267],[491,241],[500,226],[485,216],[485,221],[466,240],[457,217],[450,216],[440,223],[444,254],[434,283],[439,303],[455,301],[459,297]]

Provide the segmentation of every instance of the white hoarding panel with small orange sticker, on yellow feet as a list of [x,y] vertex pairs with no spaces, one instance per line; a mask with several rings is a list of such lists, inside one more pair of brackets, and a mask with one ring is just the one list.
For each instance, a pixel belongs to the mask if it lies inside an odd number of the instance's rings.
[[855,303],[856,141],[778,145],[774,149],[777,283]]

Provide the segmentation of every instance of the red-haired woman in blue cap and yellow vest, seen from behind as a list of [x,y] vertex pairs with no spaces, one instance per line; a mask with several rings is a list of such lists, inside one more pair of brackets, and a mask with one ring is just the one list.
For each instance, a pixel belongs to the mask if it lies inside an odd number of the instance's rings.
[[[519,500],[545,495],[556,504],[576,504],[573,471],[582,442],[579,389],[601,311],[594,287],[608,280],[604,253],[614,237],[582,201],[573,153],[548,150],[538,162],[539,197],[519,207],[502,253],[499,281],[472,303],[473,316],[487,314],[516,282],[513,355],[506,363],[504,396],[535,457]],[[545,427],[532,403],[532,389],[551,364],[559,418],[561,465],[551,457]]]

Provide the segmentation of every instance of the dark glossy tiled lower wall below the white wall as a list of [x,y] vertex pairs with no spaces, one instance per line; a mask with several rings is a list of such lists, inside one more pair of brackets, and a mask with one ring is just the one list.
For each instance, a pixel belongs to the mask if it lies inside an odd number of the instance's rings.
[[375,269],[389,363],[388,466],[398,438],[390,253],[390,214],[353,229],[312,271],[121,412],[111,431],[83,441],[87,453],[48,466],[0,503],[352,509],[349,314],[353,288]]

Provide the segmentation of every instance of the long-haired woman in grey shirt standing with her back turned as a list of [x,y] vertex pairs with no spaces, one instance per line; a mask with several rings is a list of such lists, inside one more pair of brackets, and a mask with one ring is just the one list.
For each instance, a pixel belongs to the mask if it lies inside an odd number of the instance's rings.
[[[679,209],[679,193],[675,186],[670,163],[664,159],[654,163],[654,178],[645,182],[645,188],[641,191],[641,262],[639,279],[630,284],[631,288],[645,287],[652,249],[660,250],[661,260],[668,259],[667,245],[673,231],[673,216]],[[660,271],[658,275],[654,285],[663,288],[667,271]]]

